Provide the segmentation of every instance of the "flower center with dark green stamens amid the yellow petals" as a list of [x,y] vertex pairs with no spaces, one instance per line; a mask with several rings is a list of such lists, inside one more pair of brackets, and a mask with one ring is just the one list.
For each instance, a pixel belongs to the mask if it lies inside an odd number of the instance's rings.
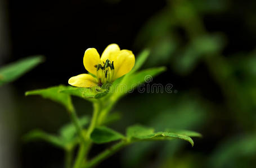
[[99,85],[106,82],[112,82],[114,74],[114,61],[111,62],[109,59],[106,59],[106,62],[103,62],[103,64],[99,63],[94,67],[97,69]]

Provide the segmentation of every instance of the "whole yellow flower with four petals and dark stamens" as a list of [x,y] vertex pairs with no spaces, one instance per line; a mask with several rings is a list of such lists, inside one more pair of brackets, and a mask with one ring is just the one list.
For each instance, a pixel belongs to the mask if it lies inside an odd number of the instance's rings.
[[84,67],[93,74],[83,73],[69,79],[69,85],[77,87],[102,86],[130,72],[135,58],[130,50],[120,50],[117,44],[110,44],[101,55],[95,48],[88,48],[84,53]]

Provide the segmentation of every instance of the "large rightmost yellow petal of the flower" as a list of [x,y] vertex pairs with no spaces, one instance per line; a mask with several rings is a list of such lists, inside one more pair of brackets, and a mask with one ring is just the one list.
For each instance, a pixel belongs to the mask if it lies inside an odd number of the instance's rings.
[[122,77],[132,70],[135,63],[135,57],[130,50],[121,50],[114,61],[114,79]]

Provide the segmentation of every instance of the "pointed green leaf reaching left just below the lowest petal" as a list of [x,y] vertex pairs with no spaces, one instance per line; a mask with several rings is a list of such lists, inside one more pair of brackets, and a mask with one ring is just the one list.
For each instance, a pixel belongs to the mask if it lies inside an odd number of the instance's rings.
[[62,85],[53,86],[39,90],[27,91],[25,95],[41,95],[45,99],[51,99],[52,101],[59,102],[60,104],[64,105],[68,110],[73,110],[73,104],[71,102],[70,95],[60,92],[60,90],[63,90],[64,88],[66,87]]

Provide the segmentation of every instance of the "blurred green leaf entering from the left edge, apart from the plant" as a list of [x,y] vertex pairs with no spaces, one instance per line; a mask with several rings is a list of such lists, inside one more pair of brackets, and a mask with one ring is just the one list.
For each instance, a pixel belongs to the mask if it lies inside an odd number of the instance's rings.
[[43,61],[41,55],[24,58],[0,68],[0,86],[12,82]]

